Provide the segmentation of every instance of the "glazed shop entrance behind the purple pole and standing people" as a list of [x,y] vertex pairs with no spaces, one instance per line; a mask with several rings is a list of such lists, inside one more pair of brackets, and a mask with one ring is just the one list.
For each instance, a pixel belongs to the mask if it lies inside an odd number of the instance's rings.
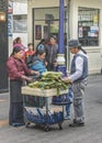
[[[67,33],[66,23],[67,22],[65,18],[65,33]],[[58,29],[59,29],[59,8],[33,9],[33,43],[35,47],[42,38],[48,40],[49,36],[53,34],[55,34],[58,37],[58,31],[59,31]]]

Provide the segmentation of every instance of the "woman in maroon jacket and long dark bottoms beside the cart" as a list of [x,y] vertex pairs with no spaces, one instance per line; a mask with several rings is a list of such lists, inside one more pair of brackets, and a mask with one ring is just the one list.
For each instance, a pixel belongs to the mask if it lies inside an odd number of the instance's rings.
[[10,113],[9,124],[13,127],[24,125],[23,120],[23,98],[21,87],[24,80],[31,81],[26,75],[38,75],[37,72],[30,70],[22,59],[20,46],[13,48],[11,56],[7,61],[8,74],[10,77]]

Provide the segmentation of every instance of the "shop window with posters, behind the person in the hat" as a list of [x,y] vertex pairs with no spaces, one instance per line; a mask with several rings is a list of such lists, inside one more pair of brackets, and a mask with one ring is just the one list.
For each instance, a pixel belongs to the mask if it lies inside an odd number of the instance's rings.
[[82,46],[99,46],[99,9],[79,8],[78,37]]

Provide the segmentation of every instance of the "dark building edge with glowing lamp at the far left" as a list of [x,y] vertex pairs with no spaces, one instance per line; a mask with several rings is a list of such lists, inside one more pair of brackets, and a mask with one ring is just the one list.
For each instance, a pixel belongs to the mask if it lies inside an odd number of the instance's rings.
[[8,2],[0,2],[0,92],[8,91]]

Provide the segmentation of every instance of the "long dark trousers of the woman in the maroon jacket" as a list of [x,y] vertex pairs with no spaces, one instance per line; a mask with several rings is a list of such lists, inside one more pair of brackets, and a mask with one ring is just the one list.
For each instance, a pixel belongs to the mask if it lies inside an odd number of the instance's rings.
[[9,123],[24,123],[23,121],[23,97],[21,95],[22,81],[10,80],[10,111]]

